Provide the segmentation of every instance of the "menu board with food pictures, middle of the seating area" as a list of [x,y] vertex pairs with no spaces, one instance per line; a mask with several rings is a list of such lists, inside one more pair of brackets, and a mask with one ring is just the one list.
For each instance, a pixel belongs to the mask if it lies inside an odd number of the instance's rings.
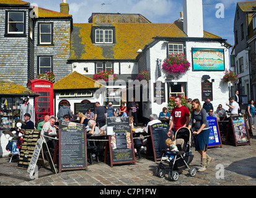
[[113,127],[112,136],[108,136],[110,166],[121,163],[135,164],[133,133],[129,117],[107,118],[107,126]]

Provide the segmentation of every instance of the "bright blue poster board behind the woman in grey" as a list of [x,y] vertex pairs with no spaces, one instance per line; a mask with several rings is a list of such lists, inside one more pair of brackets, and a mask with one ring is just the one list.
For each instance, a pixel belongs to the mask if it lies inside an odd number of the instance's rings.
[[221,134],[219,132],[219,124],[218,119],[212,116],[207,117],[207,123],[210,126],[210,135],[209,135],[209,142],[208,148],[210,147],[223,147],[221,142]]

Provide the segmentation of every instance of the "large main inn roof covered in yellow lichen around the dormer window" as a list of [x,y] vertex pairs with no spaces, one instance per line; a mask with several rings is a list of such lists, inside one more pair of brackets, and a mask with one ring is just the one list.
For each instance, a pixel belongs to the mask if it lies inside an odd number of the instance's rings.
[[[73,24],[71,35],[71,60],[132,60],[138,56],[138,49],[154,41],[154,37],[187,38],[183,32],[183,22],[172,24],[152,23],[110,23],[104,27],[115,27],[113,45],[95,45],[92,43],[92,27],[100,24]],[[204,31],[204,38],[221,39]]]

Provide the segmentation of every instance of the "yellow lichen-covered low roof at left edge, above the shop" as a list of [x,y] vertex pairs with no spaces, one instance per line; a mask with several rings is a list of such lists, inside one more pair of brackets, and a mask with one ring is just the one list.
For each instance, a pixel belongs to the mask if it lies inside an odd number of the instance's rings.
[[15,84],[14,82],[0,81],[0,94],[33,94],[31,90],[22,85]]

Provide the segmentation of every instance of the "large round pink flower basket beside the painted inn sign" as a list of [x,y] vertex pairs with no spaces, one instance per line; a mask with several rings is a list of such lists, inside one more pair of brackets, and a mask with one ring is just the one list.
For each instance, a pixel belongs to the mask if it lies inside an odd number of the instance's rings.
[[162,64],[162,69],[170,74],[186,72],[189,67],[190,62],[187,61],[185,54],[171,54]]

